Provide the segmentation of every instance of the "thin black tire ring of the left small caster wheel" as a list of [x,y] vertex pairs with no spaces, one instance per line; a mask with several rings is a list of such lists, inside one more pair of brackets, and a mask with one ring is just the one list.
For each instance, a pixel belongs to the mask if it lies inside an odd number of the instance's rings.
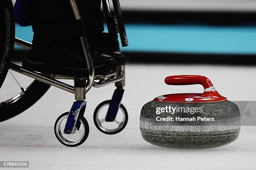
[[87,120],[85,119],[85,117],[82,116],[82,115],[79,115],[78,118],[77,118],[77,121],[80,120],[80,121],[84,124],[84,128],[85,128],[85,133],[84,133],[84,136],[83,136],[82,140],[81,140],[79,143],[74,144],[74,145],[68,145],[68,144],[64,143],[64,142],[59,138],[59,136],[57,135],[57,131],[56,131],[56,128],[57,128],[57,127],[56,127],[56,126],[57,126],[58,121],[59,121],[62,117],[67,116],[68,114],[69,114],[69,112],[65,112],[65,113],[63,113],[62,115],[60,115],[60,116],[57,118],[57,120],[56,120],[56,122],[55,122],[55,124],[54,124],[54,134],[55,134],[57,140],[59,140],[59,142],[60,142],[61,144],[65,145],[65,146],[68,146],[68,147],[76,147],[76,146],[79,146],[79,145],[81,145],[82,143],[84,143],[85,140],[87,140],[87,138],[88,138],[88,136],[89,136],[90,128],[89,128],[89,124],[88,124]]

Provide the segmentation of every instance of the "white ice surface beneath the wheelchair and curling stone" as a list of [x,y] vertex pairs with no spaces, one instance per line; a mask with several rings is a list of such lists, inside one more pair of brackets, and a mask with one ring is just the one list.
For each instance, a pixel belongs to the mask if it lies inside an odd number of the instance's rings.
[[[205,150],[156,147],[144,141],[139,130],[140,110],[146,102],[158,95],[203,90],[200,85],[165,85],[166,76],[205,75],[229,100],[255,100],[255,72],[253,66],[128,64],[122,101],[129,114],[126,128],[116,135],[97,130],[92,119],[94,109],[110,99],[114,85],[92,89],[85,112],[90,135],[76,148],[61,145],[54,135],[56,118],[70,109],[74,96],[51,87],[31,108],[0,122],[0,160],[29,161],[33,170],[255,170],[255,126],[243,126],[238,140],[229,145]],[[21,80],[23,76],[17,77]],[[22,78],[21,82],[29,80]],[[1,100],[16,86],[9,75],[0,90]]]

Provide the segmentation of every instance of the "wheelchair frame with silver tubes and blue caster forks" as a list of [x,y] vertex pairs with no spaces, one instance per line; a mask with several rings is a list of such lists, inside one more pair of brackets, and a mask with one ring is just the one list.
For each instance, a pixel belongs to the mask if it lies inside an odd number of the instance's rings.
[[[82,18],[81,18],[79,9],[77,7],[76,0],[69,0],[69,2],[72,6],[72,10],[73,10],[75,19],[81,20]],[[114,16],[111,14],[110,3],[108,0],[102,0],[102,6],[103,6],[103,10],[104,10],[105,20],[106,20],[106,23],[108,26],[108,32],[110,32],[112,34],[119,33],[122,45],[127,46],[128,41],[127,41],[127,36],[126,36],[124,24],[123,24],[123,18],[122,18],[119,1],[113,0],[113,7],[114,7],[114,11],[115,11]],[[111,22],[112,22],[112,25],[111,25]],[[113,27],[113,25],[114,25],[114,27]],[[113,94],[110,106],[108,108],[107,115],[105,117],[106,122],[115,121],[115,117],[116,117],[118,109],[121,105],[120,102],[121,102],[121,99],[123,97],[123,92],[124,92],[123,87],[125,86],[125,65],[121,65],[120,67],[118,67],[118,69],[112,70],[105,74],[95,75],[92,57],[90,55],[90,49],[89,49],[89,45],[87,42],[87,36],[84,35],[84,36],[80,37],[80,40],[82,43],[84,57],[85,57],[85,61],[86,61],[87,68],[88,68],[88,73],[89,73],[88,78],[85,78],[86,76],[73,77],[73,76],[67,76],[67,75],[47,75],[47,74],[35,72],[32,70],[26,70],[23,67],[20,67],[19,65],[16,65],[12,62],[10,63],[10,68],[9,68],[10,70],[13,70],[13,71],[18,72],[23,75],[26,75],[28,77],[32,77],[33,79],[39,80],[46,84],[52,85],[54,87],[58,87],[59,89],[65,90],[67,92],[71,92],[75,95],[76,101],[73,103],[72,108],[69,111],[67,122],[66,122],[65,129],[64,129],[64,134],[73,134],[75,132],[77,126],[79,129],[80,124],[77,125],[77,123],[78,123],[77,119],[80,115],[81,116],[84,115],[84,111],[85,111],[85,107],[86,107],[86,101],[85,101],[86,93],[91,89],[91,87],[98,88],[98,87],[102,87],[102,86],[109,85],[112,83],[115,83],[115,86],[117,87],[117,89],[115,89],[115,92]],[[32,43],[21,40],[17,37],[15,37],[15,44],[20,47],[24,47],[28,50],[30,50],[32,48]],[[64,82],[61,82],[56,79],[74,80],[74,86],[69,85]],[[98,81],[95,81],[95,80],[98,80]],[[76,128],[75,128],[75,126],[76,126]],[[118,132],[120,132],[120,131],[118,131]],[[115,132],[115,133],[118,133],[118,132]],[[105,132],[103,132],[103,133],[105,133]],[[106,133],[114,134],[114,133],[109,133],[109,132],[106,132]],[[57,135],[56,135],[56,137],[57,137]],[[67,145],[66,143],[63,143],[62,141],[60,141],[60,142],[64,145]],[[80,143],[80,144],[82,144],[82,143]],[[76,146],[76,145],[67,145],[67,146]]]

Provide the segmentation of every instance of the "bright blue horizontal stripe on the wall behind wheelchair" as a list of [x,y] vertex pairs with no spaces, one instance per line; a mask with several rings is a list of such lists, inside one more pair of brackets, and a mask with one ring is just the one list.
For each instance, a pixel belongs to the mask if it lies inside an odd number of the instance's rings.
[[[256,54],[256,26],[126,24],[123,51]],[[31,41],[31,27],[16,25],[16,37]],[[19,47],[15,47],[18,49]]]

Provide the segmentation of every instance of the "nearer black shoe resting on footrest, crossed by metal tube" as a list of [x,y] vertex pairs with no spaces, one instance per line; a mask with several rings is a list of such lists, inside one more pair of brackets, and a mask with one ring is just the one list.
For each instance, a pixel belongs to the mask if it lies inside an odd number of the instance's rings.
[[[96,74],[115,70],[118,60],[110,55],[92,52]],[[22,66],[38,72],[56,75],[84,75],[88,69],[82,49],[70,50],[66,47],[37,45],[29,50]]]

